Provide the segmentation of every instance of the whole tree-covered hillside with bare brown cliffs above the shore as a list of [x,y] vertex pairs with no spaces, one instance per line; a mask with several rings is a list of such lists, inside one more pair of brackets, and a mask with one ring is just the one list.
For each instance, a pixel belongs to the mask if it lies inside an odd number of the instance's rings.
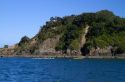
[[122,54],[125,53],[125,18],[108,10],[51,17],[38,34],[31,39],[22,37],[12,50],[16,55]]

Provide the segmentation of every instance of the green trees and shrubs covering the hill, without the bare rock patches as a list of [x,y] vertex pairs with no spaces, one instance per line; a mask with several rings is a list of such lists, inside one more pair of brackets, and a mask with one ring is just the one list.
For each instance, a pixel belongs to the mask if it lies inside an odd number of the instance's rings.
[[[86,35],[86,43],[83,51],[92,48],[106,48],[117,46],[118,52],[125,52],[125,18],[115,16],[111,11],[102,10],[96,13],[83,13],[65,17],[51,17],[35,36],[37,46],[30,48],[35,50],[44,40],[60,35],[59,43],[55,49],[66,51],[80,50],[80,40],[84,34],[86,25],[89,31]],[[23,37],[18,46],[26,49],[32,39]]]

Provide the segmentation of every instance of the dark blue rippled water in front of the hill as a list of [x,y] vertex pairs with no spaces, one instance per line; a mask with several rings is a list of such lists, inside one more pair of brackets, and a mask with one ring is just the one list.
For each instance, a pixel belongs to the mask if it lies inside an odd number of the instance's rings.
[[125,60],[1,58],[0,82],[125,82]]

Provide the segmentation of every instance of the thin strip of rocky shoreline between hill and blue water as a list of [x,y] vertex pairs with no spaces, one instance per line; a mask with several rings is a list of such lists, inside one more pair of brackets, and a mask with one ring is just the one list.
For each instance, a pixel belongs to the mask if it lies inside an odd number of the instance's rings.
[[1,58],[4,57],[24,57],[24,58],[72,58],[72,59],[125,59],[125,56],[43,56],[43,55],[0,55]]

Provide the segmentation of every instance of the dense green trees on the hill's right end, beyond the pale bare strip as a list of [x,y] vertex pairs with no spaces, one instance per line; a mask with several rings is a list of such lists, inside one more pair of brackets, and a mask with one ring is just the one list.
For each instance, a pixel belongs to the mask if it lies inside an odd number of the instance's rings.
[[86,37],[87,42],[91,47],[100,48],[116,45],[125,52],[125,19],[107,10],[97,12],[96,15],[97,19],[91,22],[91,28]]

